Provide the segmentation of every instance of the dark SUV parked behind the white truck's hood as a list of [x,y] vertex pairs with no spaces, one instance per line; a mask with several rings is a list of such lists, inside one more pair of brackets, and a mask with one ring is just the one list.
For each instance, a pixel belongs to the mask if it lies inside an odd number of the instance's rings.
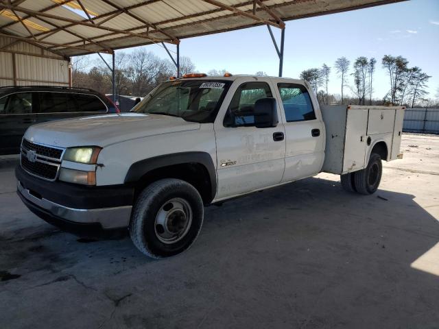
[[95,90],[52,86],[0,87],[0,155],[20,153],[29,125],[93,114],[119,113]]

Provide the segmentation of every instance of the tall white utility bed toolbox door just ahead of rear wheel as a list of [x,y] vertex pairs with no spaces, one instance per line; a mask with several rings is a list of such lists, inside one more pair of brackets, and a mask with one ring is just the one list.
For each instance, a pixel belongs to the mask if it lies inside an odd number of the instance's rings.
[[368,109],[348,109],[347,112],[343,173],[363,169],[366,154]]

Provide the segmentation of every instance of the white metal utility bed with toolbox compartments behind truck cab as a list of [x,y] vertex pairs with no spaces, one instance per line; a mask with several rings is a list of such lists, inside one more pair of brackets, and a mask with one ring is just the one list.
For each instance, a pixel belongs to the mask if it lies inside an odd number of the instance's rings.
[[364,169],[370,148],[388,145],[388,159],[399,157],[404,108],[396,106],[322,106],[327,140],[322,171],[350,173]]

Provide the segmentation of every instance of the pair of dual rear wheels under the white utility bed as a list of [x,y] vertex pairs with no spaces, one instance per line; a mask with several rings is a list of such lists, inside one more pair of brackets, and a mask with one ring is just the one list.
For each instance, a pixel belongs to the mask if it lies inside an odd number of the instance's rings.
[[357,192],[369,195],[377,191],[383,174],[381,156],[376,153],[370,154],[368,166],[353,173],[340,175],[343,188],[348,192]]

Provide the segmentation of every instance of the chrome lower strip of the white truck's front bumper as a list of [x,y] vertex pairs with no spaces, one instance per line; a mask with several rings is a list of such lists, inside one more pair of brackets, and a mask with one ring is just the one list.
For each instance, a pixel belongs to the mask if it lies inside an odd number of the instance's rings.
[[17,183],[17,191],[28,202],[43,208],[55,217],[60,217],[73,223],[99,223],[104,229],[126,228],[130,223],[132,206],[97,209],[75,209],[56,204],[44,198],[32,195],[20,182]]

